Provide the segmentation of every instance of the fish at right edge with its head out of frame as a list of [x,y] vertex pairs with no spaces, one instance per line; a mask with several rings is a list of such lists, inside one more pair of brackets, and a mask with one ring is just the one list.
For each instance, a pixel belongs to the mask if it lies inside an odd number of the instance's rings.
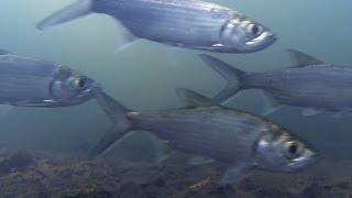
[[304,116],[324,111],[351,113],[352,67],[329,65],[295,50],[287,52],[296,66],[265,73],[246,73],[210,55],[200,55],[227,80],[226,88],[213,100],[222,103],[244,89],[260,89],[266,101],[263,114],[284,105],[305,108]]

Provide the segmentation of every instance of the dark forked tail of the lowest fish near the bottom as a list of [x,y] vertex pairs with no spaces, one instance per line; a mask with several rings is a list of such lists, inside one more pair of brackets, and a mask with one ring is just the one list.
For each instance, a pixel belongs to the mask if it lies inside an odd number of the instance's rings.
[[89,152],[89,157],[98,156],[108,151],[113,144],[122,141],[123,138],[131,131],[132,124],[125,117],[130,109],[108,96],[101,90],[95,90],[95,96],[98,105],[112,120],[112,125],[106,132],[103,138]]

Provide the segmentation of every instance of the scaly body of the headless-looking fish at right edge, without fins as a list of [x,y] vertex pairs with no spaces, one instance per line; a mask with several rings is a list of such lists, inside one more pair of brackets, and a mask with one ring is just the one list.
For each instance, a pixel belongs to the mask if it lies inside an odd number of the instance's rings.
[[352,112],[352,68],[312,65],[243,76],[243,89],[265,90],[279,103]]

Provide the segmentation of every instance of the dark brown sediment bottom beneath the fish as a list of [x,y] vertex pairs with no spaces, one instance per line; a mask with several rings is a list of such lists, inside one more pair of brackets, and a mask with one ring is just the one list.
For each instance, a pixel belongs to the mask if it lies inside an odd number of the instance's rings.
[[118,158],[79,161],[55,154],[0,157],[0,197],[352,197],[352,162],[320,163],[297,174],[253,172],[219,188],[223,165],[153,165]]

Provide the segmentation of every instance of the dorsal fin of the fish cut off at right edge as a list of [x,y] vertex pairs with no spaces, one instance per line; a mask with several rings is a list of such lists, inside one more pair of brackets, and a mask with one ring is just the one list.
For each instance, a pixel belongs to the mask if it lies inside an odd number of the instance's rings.
[[296,51],[296,50],[287,50],[287,53],[289,57],[296,62],[296,67],[305,67],[308,65],[321,65],[324,64],[320,59],[317,59],[312,56],[309,56],[308,54],[305,54],[302,52]]

